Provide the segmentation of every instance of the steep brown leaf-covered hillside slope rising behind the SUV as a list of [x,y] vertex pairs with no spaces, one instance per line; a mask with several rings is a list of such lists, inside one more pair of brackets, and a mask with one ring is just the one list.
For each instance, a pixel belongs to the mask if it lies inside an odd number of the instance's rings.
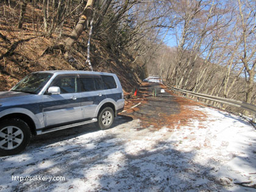
[[[85,30],[79,41],[74,44],[70,57],[65,59],[64,52],[54,50],[44,51],[57,41],[62,41],[72,30],[72,23],[66,22],[63,28],[62,38],[57,34],[51,37],[43,35],[40,26],[31,20],[32,7],[27,5],[27,12],[23,29],[18,29],[19,6],[7,6],[1,3],[0,7],[0,91],[9,90],[26,74],[34,71],[69,69],[88,70],[87,40]],[[34,14],[37,10],[34,10]],[[38,10],[38,14],[40,11]],[[34,15],[36,17],[37,15]],[[38,15],[39,16],[39,15]],[[95,33],[95,32],[94,32]],[[133,62],[132,55],[126,51],[113,52],[104,40],[91,40],[91,63],[94,71],[116,73],[124,91],[130,91],[132,87],[140,84],[144,77],[144,71],[140,65]]]

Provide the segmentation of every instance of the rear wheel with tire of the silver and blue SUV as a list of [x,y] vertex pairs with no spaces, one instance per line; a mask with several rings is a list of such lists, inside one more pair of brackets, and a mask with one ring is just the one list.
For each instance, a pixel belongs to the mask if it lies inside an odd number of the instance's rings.
[[104,108],[98,115],[97,126],[102,130],[108,129],[112,126],[114,117],[114,112],[111,107]]

